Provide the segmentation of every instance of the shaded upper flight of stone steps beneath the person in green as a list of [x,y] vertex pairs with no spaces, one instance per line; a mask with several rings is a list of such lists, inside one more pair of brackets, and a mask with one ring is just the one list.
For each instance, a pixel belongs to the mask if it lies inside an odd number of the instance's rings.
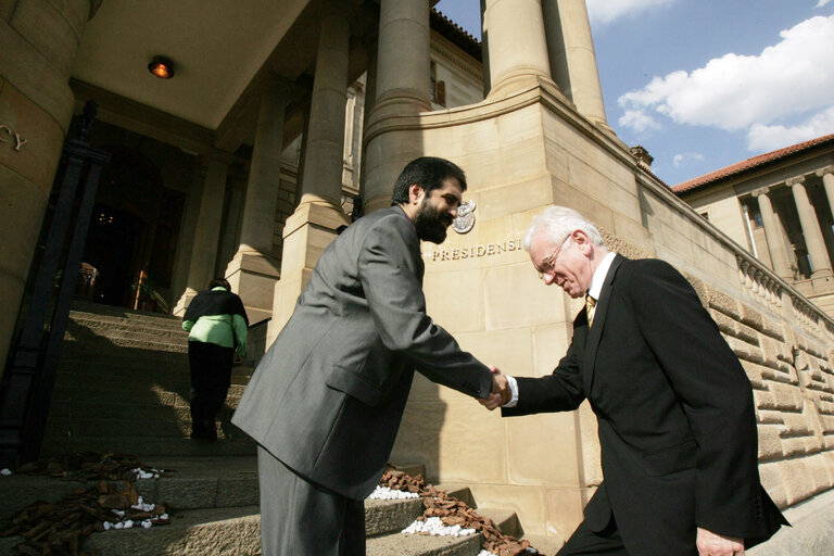
[[192,441],[188,334],[181,319],[76,303],[55,377],[42,455],[254,455],[229,419],[252,369],[236,367],[218,415],[220,442]]

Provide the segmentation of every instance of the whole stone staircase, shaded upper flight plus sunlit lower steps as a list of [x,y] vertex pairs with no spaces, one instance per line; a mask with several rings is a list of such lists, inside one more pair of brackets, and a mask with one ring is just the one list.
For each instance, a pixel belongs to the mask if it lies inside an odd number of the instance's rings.
[[[137,481],[144,502],[175,508],[172,523],[96,533],[83,548],[99,556],[255,556],[261,552],[255,445],[229,422],[251,369],[235,369],[218,419],[220,440],[211,444],[190,440],[187,334],[180,325],[170,316],[92,304],[76,304],[71,314],[42,455],[123,452],[147,466],[175,471]],[[420,466],[402,469],[422,473]],[[56,501],[79,486],[85,484],[46,477],[0,477],[0,516],[36,500]],[[477,507],[468,488],[444,490]],[[503,532],[521,536],[515,513],[478,511]],[[479,534],[454,539],[400,533],[421,514],[419,498],[366,501],[367,554],[478,555]],[[530,540],[544,554],[554,554],[560,546],[552,538]],[[0,539],[0,554],[13,554],[20,541]]]

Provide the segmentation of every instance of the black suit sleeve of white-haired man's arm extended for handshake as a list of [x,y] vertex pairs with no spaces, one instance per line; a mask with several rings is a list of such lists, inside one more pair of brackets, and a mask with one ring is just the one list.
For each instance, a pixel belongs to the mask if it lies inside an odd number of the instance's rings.
[[568,353],[552,375],[539,378],[516,377],[518,403],[515,407],[502,408],[501,415],[515,417],[544,412],[569,412],[579,407],[585,394],[578,352],[574,342],[570,342]]

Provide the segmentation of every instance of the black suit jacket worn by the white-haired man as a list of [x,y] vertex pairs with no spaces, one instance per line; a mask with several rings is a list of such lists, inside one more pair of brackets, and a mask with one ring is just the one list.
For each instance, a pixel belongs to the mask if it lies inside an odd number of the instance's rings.
[[759,483],[750,382],[669,264],[617,255],[593,326],[582,311],[553,375],[517,380],[505,416],[589,400],[604,481],[585,522],[601,531],[614,516],[630,554],[696,554],[696,526],[751,545],[784,521]]

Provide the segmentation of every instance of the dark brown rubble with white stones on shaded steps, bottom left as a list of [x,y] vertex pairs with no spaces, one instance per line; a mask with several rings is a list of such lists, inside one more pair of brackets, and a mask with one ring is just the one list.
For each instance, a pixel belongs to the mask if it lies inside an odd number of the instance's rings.
[[135,457],[81,454],[22,465],[17,473],[46,475],[73,480],[98,480],[58,502],[35,502],[0,521],[0,536],[20,535],[23,555],[87,556],[79,552],[85,538],[109,529],[151,527],[170,522],[170,507],[144,504],[134,481],[140,473],[168,475],[142,466]]

